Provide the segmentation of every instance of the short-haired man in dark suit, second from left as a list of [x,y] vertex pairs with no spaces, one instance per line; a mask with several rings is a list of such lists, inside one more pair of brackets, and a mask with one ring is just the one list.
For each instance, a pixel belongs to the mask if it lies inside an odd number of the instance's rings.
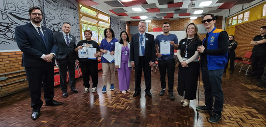
[[[68,22],[64,22],[62,26],[63,32],[55,33],[54,39],[57,42],[58,50],[55,56],[59,66],[60,74],[60,86],[63,92],[63,97],[68,97],[67,87],[67,70],[69,71],[69,85],[71,91],[77,93],[76,81],[75,81],[75,64],[78,60],[75,60],[76,38],[70,35],[71,25]],[[75,63],[76,61],[76,63]]]

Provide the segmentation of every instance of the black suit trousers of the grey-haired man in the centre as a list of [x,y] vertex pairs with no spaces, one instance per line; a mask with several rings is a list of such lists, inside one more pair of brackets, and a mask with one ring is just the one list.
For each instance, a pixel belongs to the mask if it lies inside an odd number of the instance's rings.
[[145,63],[145,56],[139,57],[139,63],[135,66],[135,91],[141,92],[141,77],[142,77],[142,68],[144,72],[145,79],[145,92],[150,92],[151,89],[151,67],[149,64]]

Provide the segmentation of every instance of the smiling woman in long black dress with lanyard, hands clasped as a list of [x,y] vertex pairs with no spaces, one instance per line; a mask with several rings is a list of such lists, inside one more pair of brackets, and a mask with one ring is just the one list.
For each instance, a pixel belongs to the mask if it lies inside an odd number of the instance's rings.
[[198,28],[196,24],[190,23],[186,29],[186,38],[180,40],[177,50],[177,57],[181,63],[177,91],[180,96],[184,96],[184,99],[181,100],[183,107],[189,106],[190,100],[196,99],[199,74],[197,47],[199,45],[202,45],[202,42],[199,39]]

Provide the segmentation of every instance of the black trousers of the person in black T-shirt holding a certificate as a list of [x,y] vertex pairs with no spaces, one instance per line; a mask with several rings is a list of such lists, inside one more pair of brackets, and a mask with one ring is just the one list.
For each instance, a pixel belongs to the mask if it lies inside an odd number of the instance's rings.
[[98,85],[98,61],[91,61],[92,62],[79,62],[79,67],[83,77],[83,86],[85,88],[90,88],[90,75],[92,77],[93,88]]

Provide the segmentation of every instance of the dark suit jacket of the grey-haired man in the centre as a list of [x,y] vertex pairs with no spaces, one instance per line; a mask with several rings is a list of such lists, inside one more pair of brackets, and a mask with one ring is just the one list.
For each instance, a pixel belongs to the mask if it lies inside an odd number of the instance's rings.
[[[145,64],[148,66],[149,62],[155,62],[155,40],[154,36],[145,33]],[[130,61],[134,61],[136,65],[139,64],[139,47],[140,33],[131,36],[130,41]]]

